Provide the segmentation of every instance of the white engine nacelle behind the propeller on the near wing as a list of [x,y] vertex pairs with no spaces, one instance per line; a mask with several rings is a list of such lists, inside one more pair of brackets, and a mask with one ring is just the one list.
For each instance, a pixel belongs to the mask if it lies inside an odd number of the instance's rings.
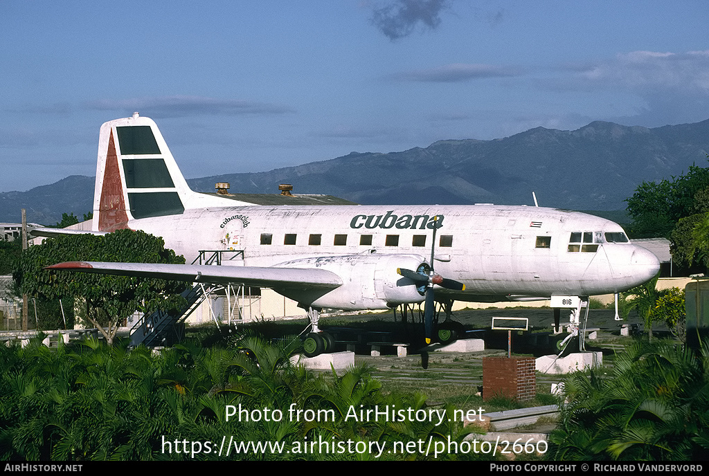
[[341,310],[389,309],[403,303],[423,302],[413,280],[399,276],[398,268],[416,269],[424,260],[416,254],[352,254],[298,259],[282,268],[322,268],[342,279],[339,288],[323,290],[276,289],[301,305]]

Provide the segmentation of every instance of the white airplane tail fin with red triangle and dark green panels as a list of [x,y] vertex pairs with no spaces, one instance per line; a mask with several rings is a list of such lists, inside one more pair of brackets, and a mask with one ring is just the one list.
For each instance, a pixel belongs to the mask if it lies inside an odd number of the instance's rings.
[[152,119],[134,113],[101,126],[94,229],[111,232],[186,208],[238,205],[228,202],[190,190]]

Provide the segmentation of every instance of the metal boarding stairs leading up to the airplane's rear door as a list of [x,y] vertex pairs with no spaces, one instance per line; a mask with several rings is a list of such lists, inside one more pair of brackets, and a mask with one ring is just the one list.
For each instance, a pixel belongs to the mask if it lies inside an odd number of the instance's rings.
[[[243,259],[244,256],[243,251],[205,250],[199,252],[199,256],[192,261],[192,264],[220,266],[224,259],[223,254],[227,253],[232,254],[229,260],[239,256]],[[208,293],[209,290],[203,285],[195,285],[194,288],[187,288],[181,293],[186,300],[186,305],[174,316],[162,310],[143,315],[130,329],[130,346],[135,347],[140,344],[147,347],[169,346],[176,341],[179,342],[184,334],[185,319],[199,307]]]

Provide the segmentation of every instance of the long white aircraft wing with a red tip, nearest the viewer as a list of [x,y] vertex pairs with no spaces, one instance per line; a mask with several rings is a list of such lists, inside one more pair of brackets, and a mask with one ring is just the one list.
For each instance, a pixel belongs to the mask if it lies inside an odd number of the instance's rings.
[[83,273],[116,274],[161,278],[189,283],[242,283],[260,288],[330,290],[342,285],[337,274],[319,268],[259,268],[249,266],[208,266],[199,264],[105,263],[67,261],[47,269]]

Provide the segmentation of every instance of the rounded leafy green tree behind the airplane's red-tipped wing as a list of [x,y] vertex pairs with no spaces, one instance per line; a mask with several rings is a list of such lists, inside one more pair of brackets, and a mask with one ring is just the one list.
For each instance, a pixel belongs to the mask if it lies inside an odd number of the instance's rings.
[[71,296],[85,300],[86,318],[113,344],[118,326],[135,311],[177,312],[184,305],[185,283],[155,278],[69,273],[45,269],[63,261],[184,263],[162,238],[121,229],[105,236],[67,235],[45,240],[23,253],[15,279],[23,293],[54,300]]

